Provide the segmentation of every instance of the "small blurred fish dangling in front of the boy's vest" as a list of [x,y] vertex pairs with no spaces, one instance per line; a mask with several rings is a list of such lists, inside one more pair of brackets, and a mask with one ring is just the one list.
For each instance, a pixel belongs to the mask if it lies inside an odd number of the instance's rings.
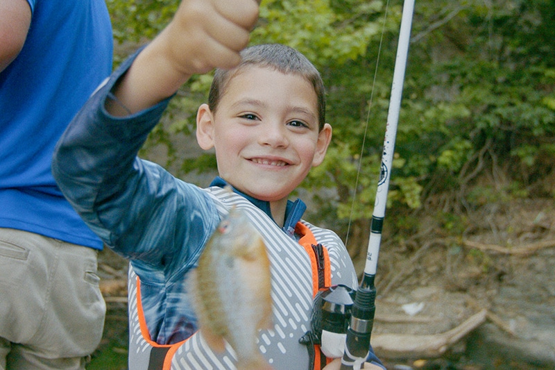
[[207,242],[192,273],[200,333],[216,352],[227,341],[237,369],[271,369],[258,351],[258,330],[271,328],[270,261],[262,236],[232,208]]

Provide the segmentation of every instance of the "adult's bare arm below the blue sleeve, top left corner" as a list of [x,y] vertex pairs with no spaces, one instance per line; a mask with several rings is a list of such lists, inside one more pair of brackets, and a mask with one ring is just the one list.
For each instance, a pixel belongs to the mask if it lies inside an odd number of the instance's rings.
[[0,72],[22,50],[31,25],[31,7],[26,0],[0,0]]

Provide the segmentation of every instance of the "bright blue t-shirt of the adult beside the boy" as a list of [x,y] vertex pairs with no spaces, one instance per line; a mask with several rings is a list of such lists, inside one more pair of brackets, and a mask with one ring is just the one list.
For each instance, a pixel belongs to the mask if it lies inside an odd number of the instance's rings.
[[0,72],[0,227],[101,249],[51,175],[53,148],[112,70],[104,0],[27,0],[22,51]]

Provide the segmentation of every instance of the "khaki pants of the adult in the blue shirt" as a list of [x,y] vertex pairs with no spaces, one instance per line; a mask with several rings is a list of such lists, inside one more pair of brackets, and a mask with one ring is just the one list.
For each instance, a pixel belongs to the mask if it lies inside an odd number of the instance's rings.
[[0,369],[85,369],[106,306],[94,249],[0,228]]

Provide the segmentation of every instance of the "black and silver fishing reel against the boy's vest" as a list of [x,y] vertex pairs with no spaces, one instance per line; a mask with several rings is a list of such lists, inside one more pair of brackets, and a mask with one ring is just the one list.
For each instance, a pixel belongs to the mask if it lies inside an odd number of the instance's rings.
[[346,285],[332,285],[314,297],[311,312],[311,330],[299,340],[309,351],[309,369],[314,369],[317,355],[314,345],[319,344],[327,358],[341,358],[345,349],[345,338],[355,301],[356,290]]

